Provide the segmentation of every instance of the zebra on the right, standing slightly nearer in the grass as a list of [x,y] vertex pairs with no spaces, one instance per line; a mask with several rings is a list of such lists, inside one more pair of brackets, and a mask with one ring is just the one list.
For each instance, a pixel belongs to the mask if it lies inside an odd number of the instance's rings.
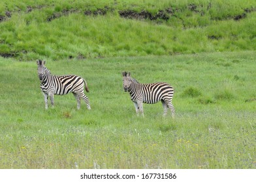
[[136,114],[144,116],[142,103],[157,103],[163,104],[163,116],[167,115],[167,110],[170,109],[172,117],[174,117],[174,106],[172,105],[172,96],[174,89],[167,83],[138,83],[131,77],[131,73],[123,72],[123,89],[129,92],[131,100],[135,105]]

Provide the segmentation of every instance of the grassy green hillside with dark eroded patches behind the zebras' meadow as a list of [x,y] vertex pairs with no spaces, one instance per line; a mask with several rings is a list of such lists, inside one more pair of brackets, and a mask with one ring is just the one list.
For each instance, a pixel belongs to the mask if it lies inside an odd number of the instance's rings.
[[255,1],[1,1],[0,55],[86,59],[255,50]]

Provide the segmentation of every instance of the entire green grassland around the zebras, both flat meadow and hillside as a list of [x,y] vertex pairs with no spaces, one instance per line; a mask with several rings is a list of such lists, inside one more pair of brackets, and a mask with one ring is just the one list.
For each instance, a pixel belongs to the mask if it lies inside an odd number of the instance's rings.
[[[0,2],[0,168],[256,168],[253,0]],[[44,109],[37,59],[88,82]],[[123,71],[174,86],[137,117]]]

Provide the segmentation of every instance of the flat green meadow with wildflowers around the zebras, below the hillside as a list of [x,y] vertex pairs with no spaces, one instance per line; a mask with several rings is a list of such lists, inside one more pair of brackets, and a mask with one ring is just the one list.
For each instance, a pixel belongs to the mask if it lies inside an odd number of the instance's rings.
[[[88,82],[91,110],[72,94],[44,109],[37,64],[0,58],[0,168],[256,168],[255,51],[46,60]],[[175,88],[137,117],[121,72]]]

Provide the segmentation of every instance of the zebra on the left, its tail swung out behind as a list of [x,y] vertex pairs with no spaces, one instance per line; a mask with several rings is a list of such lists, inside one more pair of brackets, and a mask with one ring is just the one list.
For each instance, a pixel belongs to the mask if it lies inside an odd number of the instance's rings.
[[84,85],[86,92],[89,92],[86,81],[76,75],[56,76],[50,73],[45,66],[45,60],[37,60],[37,72],[40,79],[40,88],[44,95],[45,109],[48,109],[48,96],[50,96],[51,104],[54,106],[54,94],[65,95],[72,92],[77,100],[77,109],[80,109],[80,99],[84,99],[87,108],[91,109],[88,97],[84,94]]

